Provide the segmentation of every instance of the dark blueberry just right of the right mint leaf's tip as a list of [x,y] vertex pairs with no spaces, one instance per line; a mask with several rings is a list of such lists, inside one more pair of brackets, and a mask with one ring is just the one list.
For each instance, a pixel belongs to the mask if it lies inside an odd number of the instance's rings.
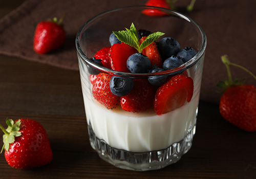
[[177,55],[180,51],[180,43],[172,37],[164,37],[158,43],[158,50],[163,60]]

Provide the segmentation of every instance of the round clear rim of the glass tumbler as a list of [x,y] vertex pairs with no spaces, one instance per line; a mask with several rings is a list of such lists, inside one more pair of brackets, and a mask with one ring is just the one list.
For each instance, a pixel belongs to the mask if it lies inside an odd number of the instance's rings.
[[[115,71],[115,70],[108,69],[108,68],[105,68],[104,66],[101,66],[101,65],[98,65],[98,64],[94,63],[86,54],[83,53],[83,51],[80,48],[80,37],[81,37],[81,34],[83,32],[84,27],[86,27],[87,24],[89,24],[93,19],[95,19],[95,18],[97,18],[101,15],[104,15],[106,13],[114,12],[114,11],[117,11],[117,10],[120,10],[120,9],[128,9],[128,8],[136,8],[136,7],[137,8],[144,8],[144,9],[158,9],[158,10],[161,10],[161,11],[164,11],[164,12],[167,12],[167,13],[169,12],[168,14],[175,14],[178,17],[181,17],[181,18],[185,19],[189,23],[193,23],[198,28],[198,30],[200,31],[201,36],[202,36],[202,45],[201,45],[201,48],[198,51],[198,53],[193,58],[191,58],[187,62],[183,63],[178,68],[163,71],[163,72],[156,72],[156,73],[131,73],[131,72],[128,73],[128,72]],[[190,18],[189,16],[187,16],[187,15],[181,13],[181,12],[175,11],[175,10],[167,9],[167,8],[161,8],[161,7],[155,7],[155,6],[140,6],[140,5],[138,5],[138,6],[124,6],[124,7],[118,7],[118,8],[114,8],[114,9],[110,9],[110,10],[101,12],[101,13],[93,16],[89,20],[87,20],[86,23],[84,23],[80,27],[79,31],[76,34],[76,50],[77,50],[78,55],[80,57],[82,57],[82,60],[86,61],[89,65],[93,66],[93,68],[95,68],[95,69],[97,69],[101,72],[111,73],[111,74],[126,76],[126,77],[129,77],[129,76],[131,76],[131,77],[132,76],[148,77],[148,76],[172,74],[172,73],[175,73],[175,72],[178,72],[178,71],[181,71],[181,70],[186,70],[188,66],[194,65],[195,63],[197,63],[199,61],[199,59],[201,59],[201,57],[203,56],[203,54],[205,52],[205,49],[206,49],[206,43],[207,43],[207,39],[206,39],[206,34],[205,34],[204,30],[201,28],[201,26],[194,19]]]

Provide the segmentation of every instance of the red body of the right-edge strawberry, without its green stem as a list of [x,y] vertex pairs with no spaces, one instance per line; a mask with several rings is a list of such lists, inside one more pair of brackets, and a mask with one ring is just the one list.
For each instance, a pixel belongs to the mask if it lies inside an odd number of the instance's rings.
[[241,129],[256,131],[256,87],[236,85],[226,89],[220,100],[220,114]]

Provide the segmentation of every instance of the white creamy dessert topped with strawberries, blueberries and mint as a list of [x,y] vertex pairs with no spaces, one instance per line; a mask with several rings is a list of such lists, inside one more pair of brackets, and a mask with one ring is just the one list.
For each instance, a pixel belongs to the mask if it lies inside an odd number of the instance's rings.
[[[193,79],[182,66],[197,51],[181,49],[172,37],[159,39],[163,35],[137,30],[132,24],[113,32],[110,46],[90,59],[127,75],[80,68],[87,122],[95,136],[113,148],[161,150],[195,129],[201,77]],[[169,73],[172,69],[176,70]]]

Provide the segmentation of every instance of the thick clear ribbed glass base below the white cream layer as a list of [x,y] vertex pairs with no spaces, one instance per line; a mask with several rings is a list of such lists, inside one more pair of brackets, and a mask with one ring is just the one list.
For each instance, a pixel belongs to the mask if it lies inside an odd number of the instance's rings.
[[98,152],[101,159],[118,168],[147,171],[161,169],[179,161],[181,156],[191,148],[196,125],[188,130],[187,135],[180,142],[166,149],[150,152],[130,152],[113,148],[95,136],[91,124],[88,125],[88,131],[91,146]]

